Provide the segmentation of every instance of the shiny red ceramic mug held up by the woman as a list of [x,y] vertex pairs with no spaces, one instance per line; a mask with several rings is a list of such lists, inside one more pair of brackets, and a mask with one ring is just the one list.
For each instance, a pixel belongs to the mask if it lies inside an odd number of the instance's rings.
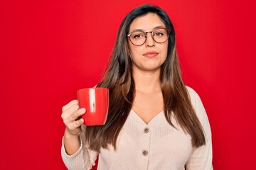
[[107,88],[86,88],[78,90],[78,104],[85,108],[82,115],[84,124],[105,125],[109,107],[109,90]]

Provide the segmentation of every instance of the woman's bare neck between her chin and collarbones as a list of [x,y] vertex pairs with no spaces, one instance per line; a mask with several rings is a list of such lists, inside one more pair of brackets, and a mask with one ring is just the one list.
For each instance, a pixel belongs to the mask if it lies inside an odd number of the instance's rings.
[[133,69],[133,78],[135,82],[135,90],[143,93],[151,93],[161,91],[160,85],[160,69],[154,71],[142,71]]

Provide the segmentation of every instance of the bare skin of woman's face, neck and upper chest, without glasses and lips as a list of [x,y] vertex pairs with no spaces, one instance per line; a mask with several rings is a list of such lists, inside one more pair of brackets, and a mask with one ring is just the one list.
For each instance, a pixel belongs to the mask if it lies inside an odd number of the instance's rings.
[[[129,31],[142,29],[144,32],[154,30],[161,26],[165,28],[164,23],[159,16],[154,13],[148,13],[132,22]],[[160,71],[161,64],[167,57],[168,41],[157,43],[147,34],[144,45],[135,46],[129,42],[129,48],[133,61],[133,77],[135,81],[136,96],[132,110],[139,115],[145,123],[154,118],[155,115],[164,110],[164,101],[161,94]],[[154,57],[144,55],[146,52],[157,52]]]

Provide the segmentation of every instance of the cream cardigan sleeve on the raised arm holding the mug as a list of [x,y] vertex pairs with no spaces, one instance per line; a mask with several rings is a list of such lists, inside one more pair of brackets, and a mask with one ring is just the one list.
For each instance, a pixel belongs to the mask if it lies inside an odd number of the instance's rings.
[[[82,132],[80,134],[80,149],[73,155],[68,155],[65,152],[64,142],[61,147],[61,157],[65,166],[69,170],[85,170],[92,169],[95,165],[95,160],[97,159],[98,152],[95,152],[88,148],[85,143],[85,126],[82,125]],[[63,137],[64,138],[64,137]]]

